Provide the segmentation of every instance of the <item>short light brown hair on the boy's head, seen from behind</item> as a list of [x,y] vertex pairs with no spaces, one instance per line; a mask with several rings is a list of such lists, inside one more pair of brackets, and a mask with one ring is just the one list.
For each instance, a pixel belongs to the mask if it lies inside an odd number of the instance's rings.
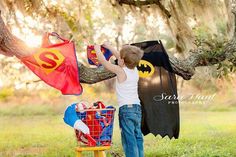
[[136,46],[125,45],[120,50],[120,58],[124,59],[124,63],[129,69],[135,68],[142,57],[143,50]]

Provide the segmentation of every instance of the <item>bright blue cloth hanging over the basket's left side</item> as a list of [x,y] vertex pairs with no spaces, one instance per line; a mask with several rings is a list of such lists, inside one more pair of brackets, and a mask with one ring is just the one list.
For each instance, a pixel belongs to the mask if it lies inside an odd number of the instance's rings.
[[86,112],[84,113],[76,112],[76,104],[77,103],[74,103],[68,106],[64,113],[64,118],[63,118],[64,122],[71,127],[74,127],[74,124],[77,120],[79,119],[82,120],[83,118],[86,117]]

